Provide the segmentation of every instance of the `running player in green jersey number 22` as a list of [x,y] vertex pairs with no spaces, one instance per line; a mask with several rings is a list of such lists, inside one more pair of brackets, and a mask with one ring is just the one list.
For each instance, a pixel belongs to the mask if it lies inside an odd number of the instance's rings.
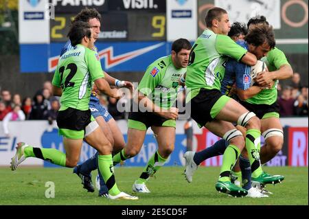
[[98,166],[108,187],[109,198],[137,200],[136,196],[119,191],[113,172],[113,146],[91,116],[89,109],[93,82],[106,95],[119,98],[117,89],[110,89],[104,80],[100,59],[92,50],[93,30],[89,23],[76,21],[71,25],[68,36],[73,48],[60,57],[52,81],[54,95],[61,96],[61,107],[56,121],[59,134],[63,136],[66,154],[53,148],[35,148],[19,142],[16,154],[12,157],[11,169],[16,170],[28,157],[73,168],[80,158],[84,139],[99,152]]

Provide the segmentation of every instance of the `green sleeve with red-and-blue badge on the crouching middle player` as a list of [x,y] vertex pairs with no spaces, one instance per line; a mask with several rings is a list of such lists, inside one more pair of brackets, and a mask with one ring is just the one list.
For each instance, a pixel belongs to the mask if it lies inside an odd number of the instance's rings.
[[149,95],[153,93],[155,87],[161,82],[162,70],[159,70],[159,66],[150,65],[146,69],[143,78],[141,78],[141,82],[139,82],[139,87],[137,90],[144,95]]

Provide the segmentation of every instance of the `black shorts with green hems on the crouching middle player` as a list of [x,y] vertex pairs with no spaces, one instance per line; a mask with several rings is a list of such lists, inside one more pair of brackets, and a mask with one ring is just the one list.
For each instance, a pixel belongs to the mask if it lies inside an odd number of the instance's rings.
[[128,128],[147,130],[150,126],[167,126],[176,128],[174,119],[165,119],[150,112],[130,112],[128,115]]

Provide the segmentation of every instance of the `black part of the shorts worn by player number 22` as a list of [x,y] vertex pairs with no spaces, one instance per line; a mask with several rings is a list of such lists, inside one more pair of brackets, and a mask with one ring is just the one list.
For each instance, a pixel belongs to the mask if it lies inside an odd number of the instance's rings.
[[76,108],[67,108],[65,111],[59,111],[57,115],[58,128],[69,130],[84,130],[91,122],[91,111],[80,111]]

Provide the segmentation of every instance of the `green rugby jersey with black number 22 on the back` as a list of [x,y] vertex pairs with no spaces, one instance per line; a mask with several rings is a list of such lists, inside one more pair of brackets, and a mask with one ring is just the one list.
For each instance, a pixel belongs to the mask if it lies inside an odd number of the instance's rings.
[[104,78],[100,58],[95,51],[76,45],[58,61],[52,84],[62,88],[60,111],[68,107],[87,111],[93,81]]

